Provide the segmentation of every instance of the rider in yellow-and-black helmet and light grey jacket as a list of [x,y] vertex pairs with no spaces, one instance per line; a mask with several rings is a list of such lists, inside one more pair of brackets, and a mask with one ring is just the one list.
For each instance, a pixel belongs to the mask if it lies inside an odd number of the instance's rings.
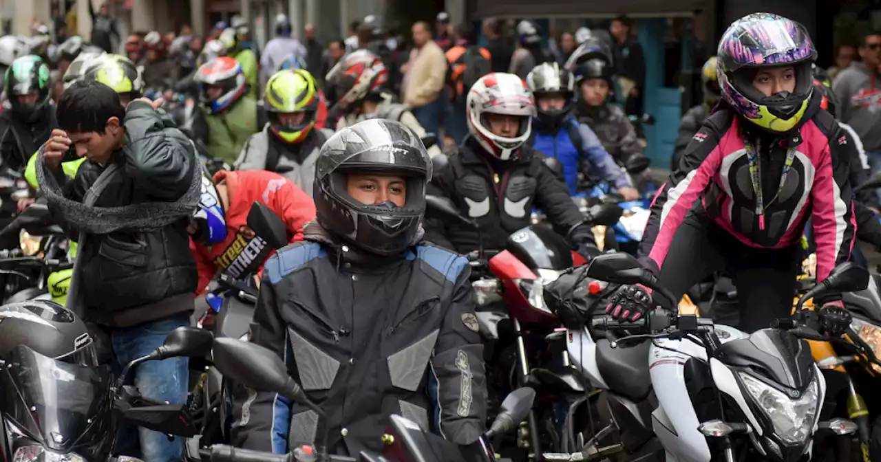
[[236,170],[278,172],[312,195],[315,161],[333,130],[315,128],[318,85],[307,70],[280,70],[266,83],[263,109],[269,122],[248,138]]

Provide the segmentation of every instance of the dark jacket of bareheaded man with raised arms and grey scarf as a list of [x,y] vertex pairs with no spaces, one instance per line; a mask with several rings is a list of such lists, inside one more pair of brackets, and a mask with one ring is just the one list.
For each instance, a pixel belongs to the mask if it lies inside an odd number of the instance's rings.
[[[61,169],[46,172],[42,156],[37,165],[53,215],[70,238],[85,238],[77,255],[81,277],[75,276],[85,317],[112,327],[192,312],[198,280],[186,230],[201,179],[193,144],[141,101],[126,109],[124,127],[125,144],[107,165],[86,160],[75,178]],[[177,211],[159,210],[155,202],[171,203]],[[113,208],[136,204],[144,207],[137,218],[112,216]],[[157,228],[162,223],[167,224]]]

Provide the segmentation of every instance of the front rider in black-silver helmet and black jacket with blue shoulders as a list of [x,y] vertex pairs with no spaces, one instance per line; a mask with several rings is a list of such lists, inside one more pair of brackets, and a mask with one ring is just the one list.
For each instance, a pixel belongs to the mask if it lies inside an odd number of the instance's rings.
[[282,454],[329,429],[331,454],[381,452],[389,414],[478,442],[485,363],[470,269],[422,239],[431,176],[419,137],[395,121],[362,121],[324,144],[317,219],[304,242],[266,262],[251,341],[284,357],[327,417],[277,393],[242,392],[234,445]]

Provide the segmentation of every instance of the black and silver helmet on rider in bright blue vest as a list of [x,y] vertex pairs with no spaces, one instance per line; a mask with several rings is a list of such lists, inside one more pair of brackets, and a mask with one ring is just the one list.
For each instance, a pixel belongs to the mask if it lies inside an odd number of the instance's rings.
[[[561,68],[557,62],[543,62],[529,72],[526,84],[536,99],[538,128],[558,128],[575,106],[575,79],[572,73]],[[538,105],[538,99],[548,93],[562,95],[566,99],[566,106],[543,110]]]

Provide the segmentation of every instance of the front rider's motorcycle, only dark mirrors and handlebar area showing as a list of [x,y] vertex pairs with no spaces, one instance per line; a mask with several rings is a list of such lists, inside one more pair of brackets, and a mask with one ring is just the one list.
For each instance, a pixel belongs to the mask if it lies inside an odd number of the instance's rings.
[[[323,417],[324,411],[309,400],[300,384],[288,376],[285,363],[275,353],[254,343],[231,338],[214,341],[212,356],[218,369],[232,380],[263,392],[278,392],[292,402],[312,408]],[[520,388],[511,392],[502,402],[500,412],[478,440],[479,458],[485,462],[497,460],[490,440],[507,431],[517,428],[532,408],[536,392],[530,388]],[[215,444],[211,448],[200,451],[203,460],[212,462],[348,462],[348,461],[421,461],[421,462],[458,462],[465,458],[457,444],[448,442],[422,430],[416,422],[404,419],[400,415],[390,416],[391,426],[382,436],[382,455],[362,451],[359,458],[332,456],[325,453],[329,428],[324,430],[322,441],[317,448],[303,446],[293,448],[292,453],[280,455],[260,451],[247,451]],[[471,458],[473,460],[473,458]]]

